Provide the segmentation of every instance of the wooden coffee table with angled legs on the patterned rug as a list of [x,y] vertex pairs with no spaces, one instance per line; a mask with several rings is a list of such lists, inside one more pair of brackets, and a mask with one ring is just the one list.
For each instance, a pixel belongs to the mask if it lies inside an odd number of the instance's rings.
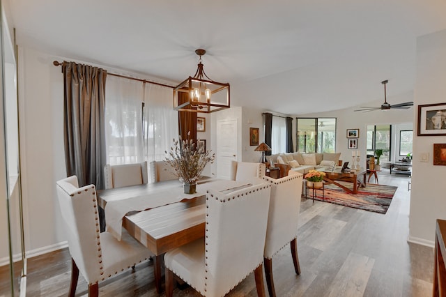
[[[352,194],[357,193],[357,188],[362,187],[365,188],[366,185],[366,169],[356,169],[354,172],[341,172],[341,167],[336,167],[332,169],[332,167],[321,167],[316,169],[319,172],[325,172],[325,176],[323,180],[325,183],[333,185],[337,185],[339,188],[342,188],[344,191]],[[362,176],[362,181],[358,176]],[[348,181],[353,184],[353,189],[347,188],[345,185],[341,185],[338,181]]]

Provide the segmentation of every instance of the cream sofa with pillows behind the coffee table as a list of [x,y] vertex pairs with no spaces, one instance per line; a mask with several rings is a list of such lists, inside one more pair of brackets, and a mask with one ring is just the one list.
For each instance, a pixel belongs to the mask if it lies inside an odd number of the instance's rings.
[[266,156],[278,164],[290,165],[291,170],[307,174],[310,170],[321,167],[339,166],[341,153],[277,153]]

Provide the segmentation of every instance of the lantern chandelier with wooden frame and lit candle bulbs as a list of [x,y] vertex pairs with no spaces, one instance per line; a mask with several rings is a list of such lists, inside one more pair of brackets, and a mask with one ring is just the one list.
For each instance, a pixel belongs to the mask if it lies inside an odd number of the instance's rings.
[[197,72],[174,89],[174,109],[183,112],[217,112],[230,106],[229,83],[214,82],[204,73],[201,56],[206,50],[195,50],[199,56]]

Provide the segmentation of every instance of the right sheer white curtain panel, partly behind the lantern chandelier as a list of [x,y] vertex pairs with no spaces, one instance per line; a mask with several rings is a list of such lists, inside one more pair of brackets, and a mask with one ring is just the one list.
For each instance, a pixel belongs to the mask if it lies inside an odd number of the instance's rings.
[[146,84],[144,126],[148,162],[164,160],[165,151],[178,139],[178,112],[174,110],[172,96],[171,88]]

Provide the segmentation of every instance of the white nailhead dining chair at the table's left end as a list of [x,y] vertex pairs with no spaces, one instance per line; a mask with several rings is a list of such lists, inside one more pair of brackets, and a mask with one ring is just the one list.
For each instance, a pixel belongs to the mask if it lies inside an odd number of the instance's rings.
[[57,181],[56,188],[71,254],[69,296],[75,296],[79,271],[89,284],[89,296],[98,296],[99,282],[151,257],[125,230],[121,241],[100,233],[94,185],[79,188],[77,176],[70,176]]

